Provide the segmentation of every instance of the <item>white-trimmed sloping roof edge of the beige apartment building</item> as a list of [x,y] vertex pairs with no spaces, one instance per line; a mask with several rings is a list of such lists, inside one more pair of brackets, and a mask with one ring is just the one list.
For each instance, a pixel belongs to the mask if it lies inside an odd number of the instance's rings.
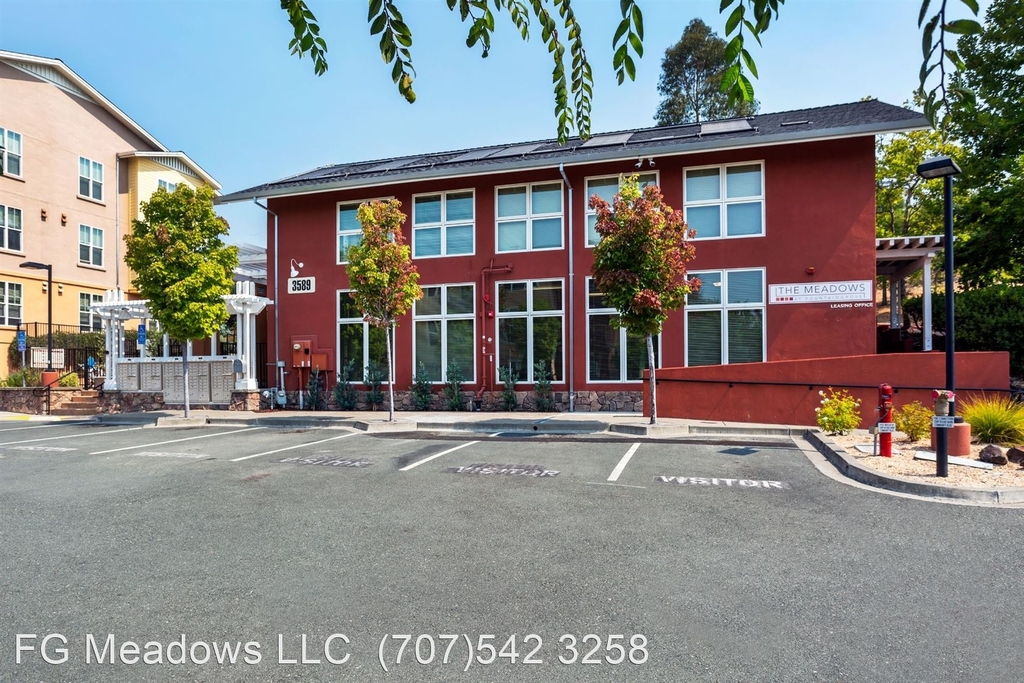
[[31,74],[35,78],[42,81],[46,81],[47,83],[60,88],[65,92],[69,92],[73,95],[82,97],[83,99],[88,99],[98,104],[111,114],[111,116],[124,124],[125,127],[148,142],[157,151],[152,154],[148,154],[147,151],[126,151],[125,154],[119,155],[120,157],[152,156],[158,158],[176,158],[184,163],[185,167],[196,176],[202,178],[204,182],[213,187],[215,191],[220,189],[220,183],[217,182],[212,175],[204,171],[199,164],[189,159],[183,152],[171,152],[164,146],[160,140],[151,135],[144,128],[142,128],[142,126],[135,123],[131,117],[115,106],[114,102],[106,99],[106,97],[103,97],[98,90],[89,85],[84,78],[72,71],[72,69],[60,59],[40,57],[34,54],[25,54],[23,52],[0,50],[0,61],[17,69],[18,71]]

